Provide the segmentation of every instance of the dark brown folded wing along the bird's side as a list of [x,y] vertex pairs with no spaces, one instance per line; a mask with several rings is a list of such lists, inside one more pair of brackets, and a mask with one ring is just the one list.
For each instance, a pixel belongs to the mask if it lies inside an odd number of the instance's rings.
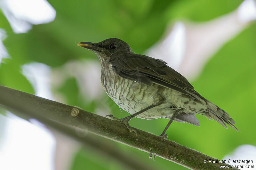
[[[114,53],[109,58],[113,71],[120,77],[151,86],[153,83],[200,98],[194,87],[180,73],[161,59],[134,53]],[[198,96],[199,95],[199,96]]]

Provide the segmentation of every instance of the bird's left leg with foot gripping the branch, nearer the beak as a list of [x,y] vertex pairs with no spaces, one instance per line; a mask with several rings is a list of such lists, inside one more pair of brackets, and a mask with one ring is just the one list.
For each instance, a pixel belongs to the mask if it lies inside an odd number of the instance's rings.
[[151,109],[151,108],[153,108],[153,107],[156,107],[156,106],[162,104],[163,101],[164,101],[164,99],[163,99],[162,96],[160,96],[160,95],[155,95],[155,96],[153,96],[153,104],[150,105],[150,106],[148,106],[148,107],[146,107],[146,108],[144,108],[144,109],[142,109],[142,110],[140,110],[139,112],[136,112],[136,113],[134,113],[134,114],[132,114],[132,115],[130,115],[130,116],[124,117],[124,118],[122,118],[122,119],[117,119],[117,118],[114,117],[113,115],[106,115],[106,117],[111,117],[113,120],[115,120],[115,121],[117,121],[117,122],[120,122],[120,123],[123,123],[123,124],[127,127],[127,129],[128,129],[130,132],[134,132],[134,133],[135,133],[135,136],[137,137],[137,131],[136,131],[133,127],[131,127],[131,126],[129,125],[129,121],[130,121],[133,117],[140,115],[141,113],[147,111],[148,109]]

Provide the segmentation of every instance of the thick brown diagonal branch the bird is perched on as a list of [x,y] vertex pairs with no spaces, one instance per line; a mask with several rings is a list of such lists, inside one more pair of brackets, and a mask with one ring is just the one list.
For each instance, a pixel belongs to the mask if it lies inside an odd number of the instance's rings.
[[[144,152],[170,160],[190,169],[220,169],[228,164],[204,155],[193,149],[165,140],[162,137],[136,129],[137,137],[130,133],[122,123],[100,115],[92,114],[80,108],[68,106],[56,101],[47,100],[32,94],[0,86],[0,104],[17,111],[28,118],[35,118],[80,141],[85,137],[79,131],[86,130],[101,137],[131,146]],[[218,161],[204,163],[204,160]],[[209,161],[208,161],[209,162]]]

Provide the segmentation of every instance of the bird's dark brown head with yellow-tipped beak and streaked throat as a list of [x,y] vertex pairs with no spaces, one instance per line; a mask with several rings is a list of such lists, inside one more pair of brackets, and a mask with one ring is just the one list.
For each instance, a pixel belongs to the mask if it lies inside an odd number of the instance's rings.
[[101,66],[105,63],[107,58],[113,53],[116,53],[116,52],[132,53],[132,49],[130,48],[130,46],[126,42],[117,38],[109,38],[107,40],[104,40],[98,43],[80,42],[77,45],[90,49],[94,53],[96,53],[100,60]]

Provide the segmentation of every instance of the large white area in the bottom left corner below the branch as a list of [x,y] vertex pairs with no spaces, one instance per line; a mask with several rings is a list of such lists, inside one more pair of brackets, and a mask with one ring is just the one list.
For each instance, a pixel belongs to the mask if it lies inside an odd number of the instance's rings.
[[5,121],[0,169],[53,170],[55,140],[51,132],[15,115],[8,117],[0,114]]

